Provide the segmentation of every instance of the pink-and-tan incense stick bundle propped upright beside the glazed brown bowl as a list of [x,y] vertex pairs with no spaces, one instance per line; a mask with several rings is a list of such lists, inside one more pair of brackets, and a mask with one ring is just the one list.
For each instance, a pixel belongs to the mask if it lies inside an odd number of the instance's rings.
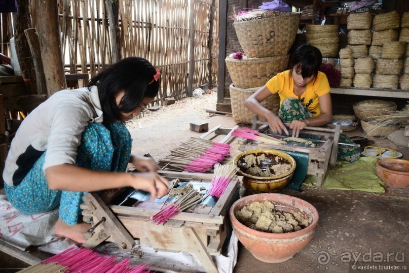
[[230,162],[226,165],[217,163],[214,165],[214,173],[209,188],[209,195],[219,198],[225,192],[230,181],[236,175],[239,168]]

